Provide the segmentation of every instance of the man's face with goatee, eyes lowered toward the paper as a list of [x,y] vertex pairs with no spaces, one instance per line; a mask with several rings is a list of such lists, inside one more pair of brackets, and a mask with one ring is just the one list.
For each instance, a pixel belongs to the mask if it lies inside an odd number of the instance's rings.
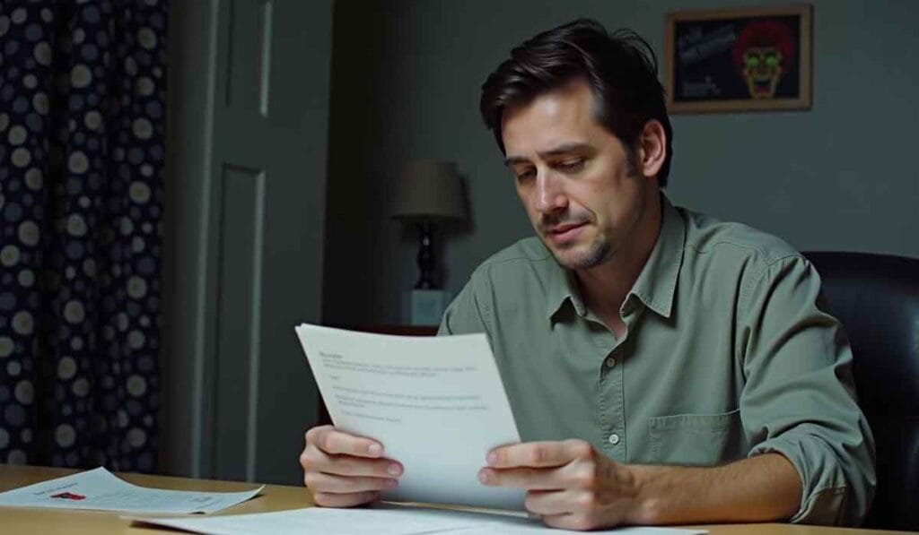
[[502,135],[517,195],[563,266],[585,270],[628,253],[655,181],[633,173],[622,143],[596,122],[589,84],[505,110]]

